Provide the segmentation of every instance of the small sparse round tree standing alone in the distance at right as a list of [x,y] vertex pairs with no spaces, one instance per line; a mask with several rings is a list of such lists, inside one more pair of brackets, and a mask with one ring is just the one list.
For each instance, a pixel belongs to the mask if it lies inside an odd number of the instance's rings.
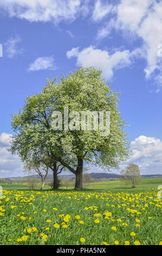
[[132,184],[132,187],[135,187],[135,184],[138,184],[141,180],[140,170],[137,164],[129,163],[126,169],[121,170],[121,179],[126,184]]

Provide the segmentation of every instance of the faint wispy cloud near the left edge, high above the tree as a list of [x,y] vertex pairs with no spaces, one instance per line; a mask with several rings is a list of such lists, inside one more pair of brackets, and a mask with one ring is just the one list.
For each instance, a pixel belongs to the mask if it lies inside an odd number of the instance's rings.
[[23,52],[22,48],[17,48],[17,44],[20,41],[21,38],[17,35],[15,38],[10,38],[9,40],[7,40],[7,42],[5,42],[4,46],[6,48],[5,52],[7,54],[7,57],[13,58],[17,54],[21,54]]

